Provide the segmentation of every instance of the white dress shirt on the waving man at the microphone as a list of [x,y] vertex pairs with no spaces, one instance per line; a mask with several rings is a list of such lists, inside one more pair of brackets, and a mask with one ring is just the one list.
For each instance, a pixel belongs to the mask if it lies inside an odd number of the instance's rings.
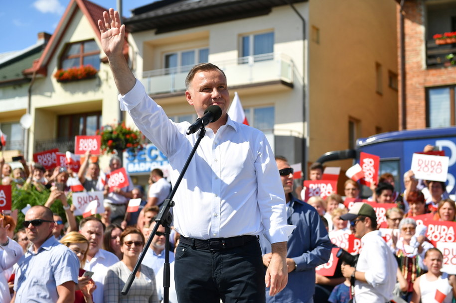
[[[190,123],[174,123],[137,81],[125,96],[138,128],[168,158],[174,185],[197,133],[186,135]],[[173,198],[174,226],[185,237],[227,238],[264,233],[271,243],[284,242],[287,225],[285,194],[271,147],[253,127],[232,121],[206,135]]]

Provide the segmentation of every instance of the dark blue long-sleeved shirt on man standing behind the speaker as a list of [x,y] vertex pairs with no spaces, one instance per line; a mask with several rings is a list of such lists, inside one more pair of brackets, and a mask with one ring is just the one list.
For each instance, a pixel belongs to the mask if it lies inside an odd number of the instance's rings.
[[[288,284],[283,291],[269,296],[266,289],[266,302],[307,303],[315,291],[315,267],[328,262],[332,243],[321,222],[318,212],[309,204],[291,196],[293,212],[288,224],[296,225],[287,242],[287,258],[292,258],[297,268],[288,273]],[[271,244],[260,237],[263,254],[271,252]]]

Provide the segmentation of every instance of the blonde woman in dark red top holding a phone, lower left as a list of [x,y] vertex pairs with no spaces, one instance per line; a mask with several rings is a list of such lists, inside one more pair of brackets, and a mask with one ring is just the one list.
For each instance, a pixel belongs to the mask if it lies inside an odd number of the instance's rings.
[[74,303],[93,303],[92,294],[96,285],[90,277],[84,276],[85,270],[82,269],[86,263],[89,241],[79,232],[71,231],[60,239],[60,243],[71,249],[81,263]]

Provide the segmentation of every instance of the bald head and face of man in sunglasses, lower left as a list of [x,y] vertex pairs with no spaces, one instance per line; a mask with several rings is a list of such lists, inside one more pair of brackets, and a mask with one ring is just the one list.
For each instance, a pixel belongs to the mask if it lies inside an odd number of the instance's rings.
[[[45,211],[41,207],[32,207],[25,214],[25,221],[31,220],[49,220],[45,217]],[[50,221],[50,220],[49,220]],[[47,238],[52,234],[52,229],[54,228],[55,223],[52,222],[42,222],[41,225],[33,226],[32,223],[28,224],[25,227],[25,233],[27,238],[35,246],[41,246],[41,244],[46,241]]]

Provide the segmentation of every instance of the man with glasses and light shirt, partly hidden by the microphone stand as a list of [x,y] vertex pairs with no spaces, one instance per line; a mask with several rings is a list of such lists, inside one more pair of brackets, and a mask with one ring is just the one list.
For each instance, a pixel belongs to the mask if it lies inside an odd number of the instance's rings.
[[[151,221],[151,224],[149,226],[149,233],[147,233],[146,237],[149,238],[149,235],[151,234],[151,231],[155,227],[155,224],[156,224],[155,221]],[[160,225],[157,229],[157,232],[153,236],[151,246],[149,246],[149,249],[143,259],[143,264],[152,268],[153,272],[155,272],[155,273],[157,273],[158,270],[164,264],[164,257],[165,257],[164,245],[165,245],[164,227]],[[174,261],[174,253],[172,251],[170,251],[169,252],[169,263],[171,263],[172,261]]]

